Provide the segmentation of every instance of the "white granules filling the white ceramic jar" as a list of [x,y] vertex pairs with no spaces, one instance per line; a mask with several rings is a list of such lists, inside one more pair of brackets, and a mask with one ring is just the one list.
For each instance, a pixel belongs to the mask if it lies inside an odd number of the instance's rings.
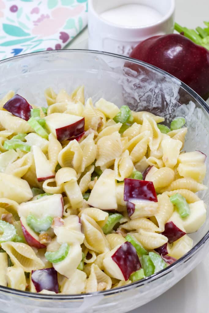
[[156,23],[163,16],[156,9],[146,5],[126,4],[107,10],[100,14],[100,17],[117,25],[138,27]]

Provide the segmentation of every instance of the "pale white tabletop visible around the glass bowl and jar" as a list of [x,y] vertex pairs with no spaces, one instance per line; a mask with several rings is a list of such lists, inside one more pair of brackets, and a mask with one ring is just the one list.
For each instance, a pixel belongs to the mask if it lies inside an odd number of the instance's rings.
[[[209,20],[208,0],[176,0],[175,21],[182,26],[203,27]],[[85,29],[69,45],[70,49],[87,49]],[[160,288],[160,286],[159,286]],[[129,313],[208,313],[209,254],[196,269],[160,297]]]

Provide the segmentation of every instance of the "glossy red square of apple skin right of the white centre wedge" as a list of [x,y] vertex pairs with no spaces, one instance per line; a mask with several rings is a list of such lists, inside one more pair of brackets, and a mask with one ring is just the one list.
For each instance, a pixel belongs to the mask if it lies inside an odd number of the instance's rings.
[[149,200],[158,202],[153,182],[145,180],[125,178],[124,179],[124,201],[132,199]]

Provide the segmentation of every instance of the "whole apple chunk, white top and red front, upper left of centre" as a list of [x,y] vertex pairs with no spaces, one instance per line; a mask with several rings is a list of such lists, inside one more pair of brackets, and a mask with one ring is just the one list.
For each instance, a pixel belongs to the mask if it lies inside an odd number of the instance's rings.
[[77,137],[84,132],[84,117],[66,113],[52,113],[45,117],[48,130],[57,140],[63,141]]

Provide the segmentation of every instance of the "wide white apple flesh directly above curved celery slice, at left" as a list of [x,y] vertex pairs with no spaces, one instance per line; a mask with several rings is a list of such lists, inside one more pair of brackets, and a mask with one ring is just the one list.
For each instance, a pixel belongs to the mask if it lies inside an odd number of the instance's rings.
[[44,196],[38,200],[33,200],[21,203],[18,206],[19,217],[27,218],[30,214],[34,214],[37,218],[44,218],[50,216],[55,218],[63,215],[63,198],[61,194],[54,194],[51,196]]

